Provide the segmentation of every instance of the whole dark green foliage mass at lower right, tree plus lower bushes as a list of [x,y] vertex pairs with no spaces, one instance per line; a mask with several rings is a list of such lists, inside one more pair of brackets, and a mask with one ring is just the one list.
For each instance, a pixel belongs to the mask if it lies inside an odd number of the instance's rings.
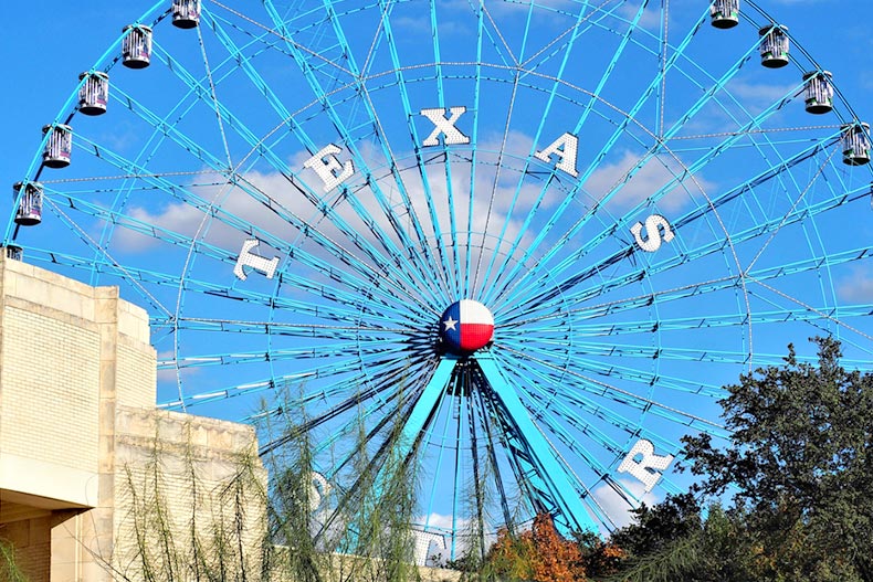
[[[612,541],[628,552],[616,581],[873,581],[873,378],[817,338],[818,364],[740,377],[722,401],[733,441],[686,437],[698,485],[637,510]],[[733,494],[701,510],[697,498]],[[705,514],[705,518],[703,517]]]

